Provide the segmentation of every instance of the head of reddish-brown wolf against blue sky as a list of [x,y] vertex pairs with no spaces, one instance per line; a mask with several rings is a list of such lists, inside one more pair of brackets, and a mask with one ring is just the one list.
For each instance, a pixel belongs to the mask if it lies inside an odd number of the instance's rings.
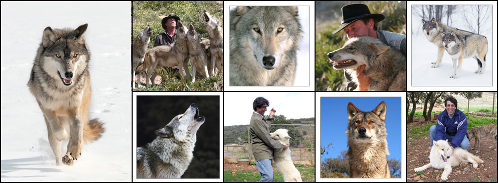
[[362,112],[353,103],[348,104],[349,125],[346,135],[353,143],[377,143],[387,136],[386,103],[382,101],[373,111]]

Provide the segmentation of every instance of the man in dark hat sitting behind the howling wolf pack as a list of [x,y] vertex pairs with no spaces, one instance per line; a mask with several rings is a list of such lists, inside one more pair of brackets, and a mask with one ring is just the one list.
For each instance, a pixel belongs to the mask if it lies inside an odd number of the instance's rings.
[[164,32],[155,37],[154,47],[160,45],[169,45],[175,41],[176,38],[176,24],[180,20],[179,17],[174,14],[170,14],[164,17],[161,21],[161,26],[164,28]]

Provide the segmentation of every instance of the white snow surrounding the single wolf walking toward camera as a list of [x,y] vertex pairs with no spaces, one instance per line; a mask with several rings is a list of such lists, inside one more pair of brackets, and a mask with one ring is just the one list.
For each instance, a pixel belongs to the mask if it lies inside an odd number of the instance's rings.
[[[2,2],[2,182],[131,181],[131,2]],[[55,166],[43,114],[26,83],[45,27],[88,23],[90,118],[106,128],[74,166]],[[63,142],[63,153],[67,141]]]

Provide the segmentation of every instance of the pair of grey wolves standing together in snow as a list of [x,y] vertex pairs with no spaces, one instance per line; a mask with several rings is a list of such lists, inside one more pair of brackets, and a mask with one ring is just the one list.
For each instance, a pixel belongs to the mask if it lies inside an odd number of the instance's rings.
[[422,24],[422,29],[427,40],[438,46],[438,57],[435,62],[431,63],[432,68],[439,67],[444,50],[446,50],[453,61],[453,75],[450,78],[458,78],[463,58],[472,57],[476,59],[478,68],[474,73],[484,73],[486,70],[486,54],[488,52],[486,37],[444,25],[441,22],[437,22],[434,18],[430,21],[422,19]]

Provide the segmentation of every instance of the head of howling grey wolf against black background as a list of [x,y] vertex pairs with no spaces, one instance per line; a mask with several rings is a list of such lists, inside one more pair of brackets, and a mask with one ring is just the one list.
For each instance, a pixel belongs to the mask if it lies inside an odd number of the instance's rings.
[[193,103],[183,114],[173,117],[164,128],[156,130],[155,135],[174,138],[179,142],[195,142],[197,130],[203,123],[204,116],[199,117],[199,109]]

